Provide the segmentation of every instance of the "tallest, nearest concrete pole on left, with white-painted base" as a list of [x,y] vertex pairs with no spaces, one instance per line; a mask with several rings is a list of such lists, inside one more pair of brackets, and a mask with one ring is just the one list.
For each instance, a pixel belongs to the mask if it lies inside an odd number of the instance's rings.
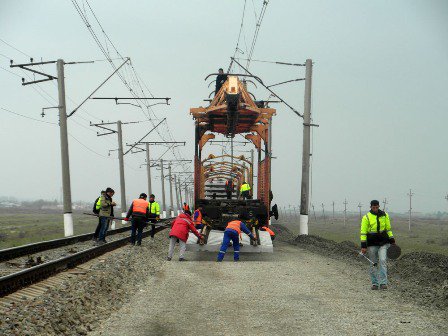
[[[54,64],[56,63],[57,77],[47,75],[43,72],[30,69],[29,67],[35,65],[43,64]],[[71,62],[75,63],[75,62]],[[33,63],[33,59],[30,59],[30,63],[26,64],[13,64],[11,60],[10,67],[19,67],[23,70],[31,71],[34,74],[39,74],[46,78],[34,80],[31,82],[25,82],[22,78],[22,85],[35,84],[40,82],[45,82],[49,80],[57,79],[58,81],[58,98],[59,105],[49,108],[59,109],[59,131],[60,131],[60,141],[61,141],[61,167],[62,167],[62,192],[63,192],[63,205],[64,205],[64,235],[73,235],[73,216],[72,216],[72,196],[71,196],[71,186],[70,186],[70,163],[68,155],[68,132],[67,132],[67,105],[65,101],[65,79],[64,79],[64,60],[58,59],[57,61],[48,62],[37,62]],[[44,109],[49,109],[44,108]]]

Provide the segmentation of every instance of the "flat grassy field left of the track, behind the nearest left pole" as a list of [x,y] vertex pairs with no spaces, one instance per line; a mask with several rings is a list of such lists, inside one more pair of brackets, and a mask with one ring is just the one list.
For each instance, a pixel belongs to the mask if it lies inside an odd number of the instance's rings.
[[[75,235],[95,231],[98,223],[82,212],[73,213],[73,221]],[[63,237],[60,211],[0,209],[0,249]]]

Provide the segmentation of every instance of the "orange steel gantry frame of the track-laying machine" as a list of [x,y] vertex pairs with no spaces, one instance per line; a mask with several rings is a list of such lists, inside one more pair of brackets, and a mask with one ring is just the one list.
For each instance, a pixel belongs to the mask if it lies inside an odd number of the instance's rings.
[[[233,114],[229,113],[226,97],[237,95],[237,109]],[[257,152],[258,178],[257,178],[257,199],[266,205],[267,211],[270,209],[269,191],[271,158],[269,153],[269,121],[276,114],[273,108],[258,107],[246,89],[245,83],[237,76],[229,75],[226,82],[215,95],[214,99],[207,107],[190,108],[190,114],[195,120],[195,157],[194,157],[194,195],[195,204],[204,197],[204,185],[207,177],[207,170],[201,159],[202,149],[207,141],[214,139],[215,134],[220,133],[227,137],[234,137],[236,134],[244,135],[251,141]],[[262,159],[262,151],[265,155]],[[222,176],[232,176],[232,172],[241,171],[237,165],[229,170],[221,170]],[[253,169],[253,167],[252,167]],[[218,176],[217,175],[217,176]],[[244,176],[242,177],[244,178]],[[241,182],[241,181],[239,181]],[[252,181],[253,187],[253,181]],[[269,215],[268,215],[269,218]]]

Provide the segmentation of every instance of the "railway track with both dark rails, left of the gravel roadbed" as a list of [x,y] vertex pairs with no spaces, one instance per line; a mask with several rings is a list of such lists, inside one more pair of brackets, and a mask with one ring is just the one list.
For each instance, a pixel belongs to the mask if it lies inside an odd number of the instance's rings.
[[[164,224],[171,220],[171,218],[163,219],[159,223]],[[158,226],[156,227],[156,233],[162,231],[165,229],[165,226]],[[129,227],[117,229],[114,231],[121,230],[120,232],[125,232],[129,230]],[[115,232],[120,233],[120,232]],[[143,237],[149,236],[150,231],[143,232]],[[45,251],[46,249],[56,248],[60,246],[68,245],[68,241],[71,241],[70,244],[74,244],[79,241],[86,241],[92,238],[93,234],[86,234],[86,235],[80,235],[76,237],[70,237],[70,238],[63,238],[63,239],[57,239],[54,241],[48,241],[48,242],[42,242],[42,243],[36,243],[36,244],[30,244],[25,245],[23,247],[20,247],[21,249],[16,249],[16,253],[24,253],[21,254],[27,255],[30,254],[29,251],[33,251],[31,253],[36,253],[37,249],[40,249],[39,251]],[[81,237],[81,238],[80,238]],[[84,239],[84,240],[76,240],[76,239]],[[65,241],[65,245],[64,245]],[[108,242],[103,245],[94,246],[91,248],[88,248],[86,250],[74,253],[69,256],[65,256],[56,260],[48,261],[40,265],[36,265],[27,269],[23,269],[19,272],[15,272],[12,274],[8,274],[6,276],[0,277],[0,298],[5,297],[6,295],[9,295],[11,293],[14,293],[22,288],[25,288],[31,284],[35,284],[39,281],[42,281],[44,279],[47,279],[61,271],[74,268],[80,264],[83,264],[89,260],[92,260],[100,255],[103,255],[107,252],[110,252],[112,250],[115,250],[117,248],[120,248],[129,242],[129,237],[126,236],[121,239],[117,239],[111,242]],[[45,244],[47,243],[47,244]],[[61,245],[58,245],[61,244]],[[37,246],[31,246],[31,245],[37,245]],[[41,245],[41,246],[39,246]],[[15,249],[15,248],[13,248]],[[28,250],[27,250],[28,249]],[[12,250],[12,249],[8,249]],[[28,253],[26,253],[28,251]],[[9,251],[11,253],[11,251]],[[17,257],[17,254],[15,257]],[[11,255],[11,254],[10,254]],[[12,254],[14,255],[14,254]],[[6,256],[6,254],[5,254]]]

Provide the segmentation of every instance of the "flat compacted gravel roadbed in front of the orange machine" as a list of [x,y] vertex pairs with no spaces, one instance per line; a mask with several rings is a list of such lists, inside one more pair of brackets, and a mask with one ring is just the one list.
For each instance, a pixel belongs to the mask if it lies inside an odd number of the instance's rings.
[[292,244],[287,230],[282,236],[273,254],[242,254],[239,263],[194,252],[187,262],[165,261],[89,335],[448,334],[446,310],[394,285],[372,291],[367,266]]

